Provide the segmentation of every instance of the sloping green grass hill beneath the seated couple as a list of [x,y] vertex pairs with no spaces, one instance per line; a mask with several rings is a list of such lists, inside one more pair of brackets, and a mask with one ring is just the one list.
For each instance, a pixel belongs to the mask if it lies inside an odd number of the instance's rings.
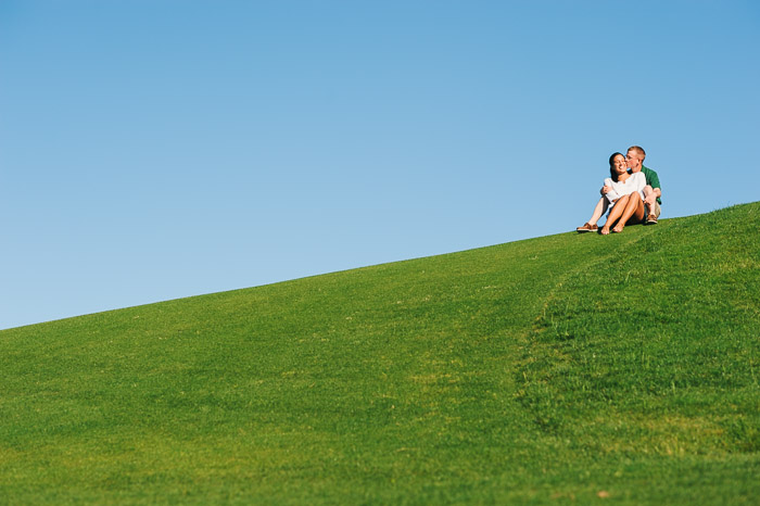
[[0,503],[758,504],[760,203],[0,331]]

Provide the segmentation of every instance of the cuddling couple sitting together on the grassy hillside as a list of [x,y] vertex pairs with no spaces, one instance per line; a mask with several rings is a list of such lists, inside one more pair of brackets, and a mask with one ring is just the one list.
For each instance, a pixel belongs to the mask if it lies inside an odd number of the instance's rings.
[[[607,236],[610,232],[622,232],[625,225],[646,223],[655,225],[660,217],[660,178],[651,168],[643,165],[646,152],[644,148],[632,146],[628,154],[612,153],[609,157],[611,177],[605,179],[601,187],[601,199],[597,202],[591,219],[578,227],[579,232],[599,230],[596,222],[609,208],[605,226],[599,232]],[[617,225],[616,225],[617,223]]]

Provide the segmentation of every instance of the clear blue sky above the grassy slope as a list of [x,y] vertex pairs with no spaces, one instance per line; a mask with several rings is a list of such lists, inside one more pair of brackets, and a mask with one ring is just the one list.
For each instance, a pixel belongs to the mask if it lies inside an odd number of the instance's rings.
[[755,0],[0,0],[0,328],[569,232],[631,144],[755,202],[759,90]]

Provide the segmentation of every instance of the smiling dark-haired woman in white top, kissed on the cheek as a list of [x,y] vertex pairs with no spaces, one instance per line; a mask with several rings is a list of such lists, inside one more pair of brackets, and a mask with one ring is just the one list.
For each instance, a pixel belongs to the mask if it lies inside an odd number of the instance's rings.
[[644,220],[643,190],[646,186],[646,177],[642,173],[629,174],[625,156],[622,153],[612,153],[609,157],[610,177],[605,179],[605,186],[611,190],[605,193],[594,208],[591,219],[575,230],[579,232],[596,231],[596,222],[609,208],[607,223],[601,227],[601,235],[607,236],[610,227],[618,222],[612,231],[621,232],[626,224],[642,223]]

